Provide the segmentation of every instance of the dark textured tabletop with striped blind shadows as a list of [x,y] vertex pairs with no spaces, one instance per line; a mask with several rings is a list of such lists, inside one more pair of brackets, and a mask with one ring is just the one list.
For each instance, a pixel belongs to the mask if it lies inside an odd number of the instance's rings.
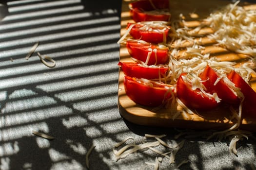
[[[175,129],[135,125],[119,114],[121,1],[0,2],[1,16],[7,15],[0,21],[0,170],[86,170],[92,145],[90,170],[153,170],[145,162],[155,162],[157,153],[143,150],[116,161],[114,144],[128,136],[134,140],[127,143],[139,144],[144,134],[167,134],[163,140],[169,144],[182,140],[174,139]],[[37,52],[56,66],[43,65]],[[175,161],[189,160],[180,167],[184,170],[256,166],[255,140],[238,141],[237,156],[228,145],[228,140],[186,139]],[[164,158],[159,170],[175,167]]]

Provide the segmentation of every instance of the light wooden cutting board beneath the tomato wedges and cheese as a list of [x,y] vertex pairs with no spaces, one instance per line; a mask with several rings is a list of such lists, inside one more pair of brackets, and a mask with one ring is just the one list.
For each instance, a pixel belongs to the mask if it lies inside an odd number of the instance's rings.
[[[228,0],[170,0],[172,19],[177,19],[179,14],[183,14],[186,17],[189,25],[197,24],[197,20],[209,16],[212,10],[224,6],[231,1]],[[123,35],[126,32],[127,22],[134,22],[129,14],[128,8],[129,1],[122,1],[121,11],[121,30],[120,34]],[[239,4],[240,5],[240,4]],[[249,5],[249,4],[244,4]],[[256,5],[251,5],[256,9]],[[191,13],[196,13],[199,18],[195,19],[190,17]],[[247,56],[242,54],[236,54],[226,51],[222,48],[217,48],[211,51],[211,55],[217,56],[221,60],[233,61],[246,58]],[[132,62],[130,55],[125,46],[120,46],[120,61]],[[175,127],[184,129],[214,129],[223,130],[231,127],[234,122],[230,121],[230,111],[228,108],[217,107],[214,110],[206,112],[198,112],[198,114],[180,114],[176,119],[173,119],[169,109],[145,107],[136,104],[126,95],[123,86],[124,74],[119,69],[119,88],[118,88],[118,109],[121,116],[130,122],[139,125],[158,126],[158,127]],[[256,79],[251,80],[251,85],[256,90]],[[240,129],[256,132],[256,119],[243,119]]]

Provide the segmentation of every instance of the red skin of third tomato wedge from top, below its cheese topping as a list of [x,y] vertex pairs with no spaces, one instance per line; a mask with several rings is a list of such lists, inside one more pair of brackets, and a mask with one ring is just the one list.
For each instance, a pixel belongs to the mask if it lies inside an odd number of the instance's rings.
[[[128,23],[127,24],[127,29],[131,26],[131,24],[133,23]],[[131,29],[131,31],[129,32],[130,35],[132,35],[132,37],[134,39],[141,39],[144,40],[146,42],[151,42],[151,43],[161,43],[161,42],[166,42],[167,38],[168,38],[168,32],[170,30],[170,28],[166,28],[164,31],[144,31],[141,30],[140,28],[143,27],[144,24],[142,23],[136,23],[133,28]]]

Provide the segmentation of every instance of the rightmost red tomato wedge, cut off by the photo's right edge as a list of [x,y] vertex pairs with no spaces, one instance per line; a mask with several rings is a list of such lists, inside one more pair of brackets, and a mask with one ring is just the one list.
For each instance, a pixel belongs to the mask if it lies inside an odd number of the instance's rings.
[[247,116],[256,118],[256,92],[254,89],[252,89],[252,87],[234,70],[231,71],[227,77],[236,85],[236,87],[241,89],[241,92],[244,95],[242,107],[243,113]]

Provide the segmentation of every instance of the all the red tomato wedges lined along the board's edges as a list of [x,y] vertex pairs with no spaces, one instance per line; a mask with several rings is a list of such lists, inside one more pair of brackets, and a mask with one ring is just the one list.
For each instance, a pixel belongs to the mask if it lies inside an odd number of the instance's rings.
[[170,14],[156,15],[146,11],[154,10],[156,7],[158,9],[168,9],[169,0],[139,0],[130,3],[129,6],[131,17],[136,24],[128,23],[127,25],[133,40],[126,41],[126,47],[136,62],[119,62],[118,65],[125,74],[124,88],[126,95],[132,101],[144,106],[159,106],[168,101],[172,95],[175,95],[190,109],[210,110],[221,103],[239,106],[241,100],[243,100],[243,114],[256,118],[256,109],[254,108],[256,92],[234,70],[227,75],[227,78],[236,87],[240,88],[243,97],[238,97],[229,85],[218,77],[217,72],[209,66],[199,76],[206,92],[209,94],[217,93],[221,102],[217,102],[215,98],[202,93],[199,88],[193,89],[192,84],[186,81],[187,73],[182,73],[179,76],[176,85],[155,81],[164,78],[169,72],[167,66],[169,48],[159,47],[158,43],[162,43],[168,38],[170,27],[166,26],[160,32],[155,28],[143,30],[141,27],[145,27],[143,21],[168,21]]

